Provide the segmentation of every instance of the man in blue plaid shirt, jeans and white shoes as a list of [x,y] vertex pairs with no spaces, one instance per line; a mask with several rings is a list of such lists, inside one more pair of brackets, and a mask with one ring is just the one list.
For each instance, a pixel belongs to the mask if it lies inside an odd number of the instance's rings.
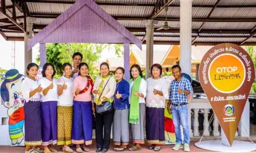
[[[182,70],[179,65],[172,67],[172,74],[175,79],[170,83],[170,97],[168,103],[168,112],[172,112],[173,124],[175,126],[176,144],[173,150],[182,149],[182,134],[180,132],[180,123],[183,128],[184,151],[190,151],[190,132],[188,123],[187,96],[193,92],[188,79],[182,77]],[[171,108],[170,108],[171,105]]]

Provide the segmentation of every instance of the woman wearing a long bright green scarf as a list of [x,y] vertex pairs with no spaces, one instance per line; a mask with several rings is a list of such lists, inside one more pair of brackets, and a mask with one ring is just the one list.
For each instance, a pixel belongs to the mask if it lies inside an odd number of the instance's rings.
[[147,82],[143,79],[141,68],[134,64],[130,68],[130,114],[131,138],[134,146],[130,151],[140,150],[140,144],[144,144],[144,117],[145,117],[145,97],[147,94]]

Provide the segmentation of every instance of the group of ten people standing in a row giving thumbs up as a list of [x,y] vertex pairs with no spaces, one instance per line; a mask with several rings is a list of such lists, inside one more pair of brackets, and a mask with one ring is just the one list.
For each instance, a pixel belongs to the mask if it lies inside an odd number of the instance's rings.
[[[165,143],[164,109],[169,100],[168,112],[175,125],[176,145],[183,148],[180,125],[184,133],[184,151],[189,150],[190,134],[187,120],[187,95],[193,92],[190,82],[182,77],[179,65],[172,67],[175,80],[168,84],[162,78],[162,67],[151,67],[151,78],[143,79],[139,65],[130,68],[129,82],[124,79],[125,70],[116,68],[115,76],[109,74],[109,65],[101,63],[101,74],[93,81],[89,67],[82,63],[83,55],[74,53],[73,65],[62,65],[63,76],[55,79],[55,68],[44,64],[42,78],[37,81],[38,65],[27,65],[27,78],[22,92],[26,99],[25,152],[57,152],[52,145],[61,145],[63,152],[90,151],[92,144],[93,114],[95,113],[96,152],[107,152],[113,131],[114,151],[140,150],[144,144],[144,119],[149,149],[160,151]],[[168,89],[170,88],[170,89]],[[98,113],[96,105],[108,101],[110,111]],[[113,128],[112,128],[113,125]],[[129,145],[130,135],[132,143]],[[43,150],[39,147],[43,146]]]

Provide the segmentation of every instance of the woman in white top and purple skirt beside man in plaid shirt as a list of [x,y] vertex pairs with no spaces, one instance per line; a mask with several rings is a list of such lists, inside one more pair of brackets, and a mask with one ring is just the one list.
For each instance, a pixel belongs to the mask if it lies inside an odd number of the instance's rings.
[[151,67],[151,78],[147,79],[146,98],[146,134],[149,149],[160,151],[159,145],[165,144],[164,110],[165,99],[168,99],[168,82],[161,78],[162,66]]

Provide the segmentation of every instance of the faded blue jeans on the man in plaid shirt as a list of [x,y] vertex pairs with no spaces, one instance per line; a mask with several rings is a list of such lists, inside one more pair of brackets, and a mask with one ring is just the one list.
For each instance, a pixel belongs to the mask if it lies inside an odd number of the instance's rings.
[[182,144],[182,133],[180,132],[180,123],[182,124],[184,143],[190,143],[189,123],[187,120],[187,105],[172,105],[172,121],[175,127],[176,143]]

